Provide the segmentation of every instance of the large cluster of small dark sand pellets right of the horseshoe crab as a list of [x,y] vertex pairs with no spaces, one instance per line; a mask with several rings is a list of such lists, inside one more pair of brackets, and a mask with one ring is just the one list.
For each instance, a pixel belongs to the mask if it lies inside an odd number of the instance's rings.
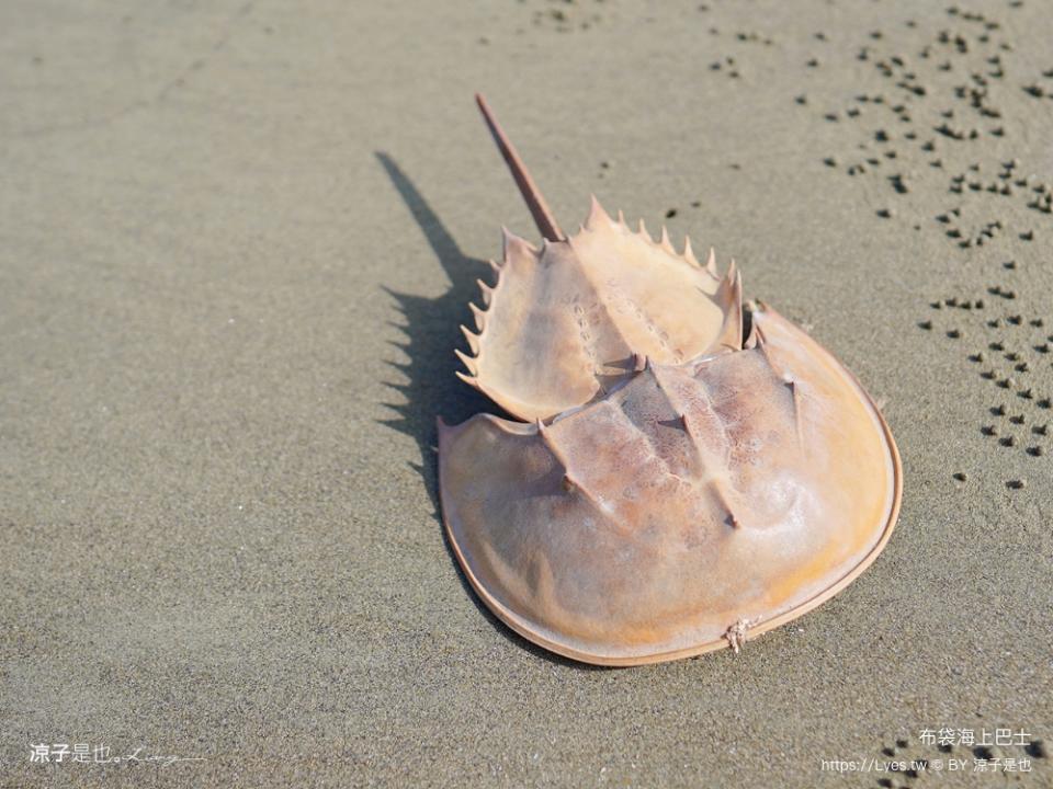
[[[1020,7],[1009,3],[1003,13]],[[975,365],[989,393],[977,430],[992,446],[1038,462],[1053,450],[1053,327],[1038,313],[1037,299],[1021,298],[1027,279],[1016,253],[1049,233],[1053,185],[1019,157],[998,151],[1012,146],[1022,125],[1014,123],[1014,108],[1020,115],[1028,101],[1053,93],[1053,69],[1035,77],[1027,59],[1018,62],[1006,25],[990,14],[951,5],[946,19],[935,28],[908,20],[909,33],[874,30],[859,42],[856,57],[873,67],[880,87],[817,111],[858,133],[854,151],[830,155],[825,163],[831,172],[885,185],[879,218],[939,233],[949,254],[983,261],[985,284],[930,294],[917,325],[952,342]],[[795,100],[809,104],[804,95]],[[1031,305],[1030,313],[1021,302]],[[969,481],[965,470],[953,477]],[[1015,476],[1005,484],[1020,490],[1027,479]]]

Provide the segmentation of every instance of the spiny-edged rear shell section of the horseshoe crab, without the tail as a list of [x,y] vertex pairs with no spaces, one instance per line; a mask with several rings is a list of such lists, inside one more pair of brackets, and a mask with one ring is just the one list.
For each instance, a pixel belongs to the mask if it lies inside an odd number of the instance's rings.
[[514,416],[548,420],[602,397],[632,375],[634,359],[681,364],[741,347],[741,281],[732,263],[717,276],[713,253],[699,265],[665,228],[614,221],[596,197],[581,231],[539,250],[505,232],[494,287],[479,283],[474,357],[460,375]]

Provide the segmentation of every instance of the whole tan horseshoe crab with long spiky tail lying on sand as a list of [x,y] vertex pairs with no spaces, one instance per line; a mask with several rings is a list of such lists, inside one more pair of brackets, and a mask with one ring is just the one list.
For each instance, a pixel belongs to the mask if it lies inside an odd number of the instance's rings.
[[476,593],[553,652],[635,665],[737,652],[839,592],[902,491],[859,381],[772,308],[744,310],[712,254],[699,266],[595,198],[566,238],[477,100],[545,242],[506,232],[461,355],[532,421],[439,421],[443,521]]

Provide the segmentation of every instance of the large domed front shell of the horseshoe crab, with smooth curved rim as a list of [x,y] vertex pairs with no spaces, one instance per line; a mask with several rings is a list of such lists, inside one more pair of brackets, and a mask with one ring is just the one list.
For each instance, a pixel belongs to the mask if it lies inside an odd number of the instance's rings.
[[450,540],[510,627],[608,665],[737,650],[873,561],[898,512],[892,436],[829,353],[752,319],[754,347],[648,365],[551,425],[440,424]]

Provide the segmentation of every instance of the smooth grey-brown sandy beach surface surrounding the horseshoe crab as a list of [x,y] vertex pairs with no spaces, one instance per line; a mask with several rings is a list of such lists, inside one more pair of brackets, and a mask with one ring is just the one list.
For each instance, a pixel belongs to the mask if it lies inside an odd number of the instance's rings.
[[[0,785],[1053,786],[1049,11],[0,5]],[[555,659],[444,541],[536,238],[477,90],[564,227],[715,247],[884,403],[891,542],[738,655]]]

